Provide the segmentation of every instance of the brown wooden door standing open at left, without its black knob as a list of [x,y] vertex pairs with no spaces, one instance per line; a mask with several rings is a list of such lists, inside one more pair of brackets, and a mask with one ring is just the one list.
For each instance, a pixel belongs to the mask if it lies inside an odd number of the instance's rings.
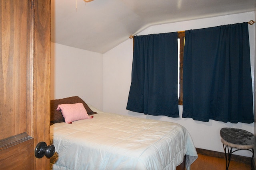
[[0,169],[49,169],[50,0],[0,0],[0,120]]

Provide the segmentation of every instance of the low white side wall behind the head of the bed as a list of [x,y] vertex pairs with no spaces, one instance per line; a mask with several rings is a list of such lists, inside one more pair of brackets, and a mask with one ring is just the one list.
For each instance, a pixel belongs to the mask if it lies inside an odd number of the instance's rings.
[[51,43],[51,99],[79,96],[103,109],[102,54]]

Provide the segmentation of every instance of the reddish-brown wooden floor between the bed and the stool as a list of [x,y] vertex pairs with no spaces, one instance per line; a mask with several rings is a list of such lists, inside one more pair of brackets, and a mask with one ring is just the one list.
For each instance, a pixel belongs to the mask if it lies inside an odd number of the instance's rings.
[[[198,159],[191,165],[191,170],[226,170],[226,159],[198,154]],[[251,166],[231,160],[228,170],[251,170]]]

